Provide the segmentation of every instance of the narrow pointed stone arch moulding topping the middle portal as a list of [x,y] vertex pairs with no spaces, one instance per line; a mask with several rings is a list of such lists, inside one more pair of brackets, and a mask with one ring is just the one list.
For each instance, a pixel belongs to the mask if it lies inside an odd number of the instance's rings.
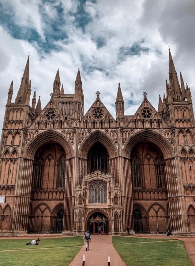
[[90,134],[85,139],[85,141],[81,144],[81,147],[79,149],[79,156],[87,159],[87,155],[88,155],[90,148],[96,142],[100,142],[103,144],[103,146],[105,146],[109,154],[109,158],[113,158],[117,156],[117,150],[116,150],[116,147],[114,146],[114,143],[107,137],[106,134],[104,134],[103,132],[99,130]]

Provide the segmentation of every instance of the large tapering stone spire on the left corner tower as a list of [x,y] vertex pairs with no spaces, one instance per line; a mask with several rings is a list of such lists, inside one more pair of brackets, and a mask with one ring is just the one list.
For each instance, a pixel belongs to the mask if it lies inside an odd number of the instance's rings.
[[28,55],[28,59],[27,59],[26,66],[24,69],[24,74],[22,76],[20,88],[17,93],[16,103],[17,102],[26,103],[29,105],[30,94],[31,94],[31,83],[29,81],[29,55]]

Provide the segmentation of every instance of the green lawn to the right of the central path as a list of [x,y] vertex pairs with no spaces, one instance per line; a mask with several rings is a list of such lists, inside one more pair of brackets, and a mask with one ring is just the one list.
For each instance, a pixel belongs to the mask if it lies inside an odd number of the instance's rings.
[[[182,241],[165,241],[166,239],[154,238],[124,238],[125,237],[113,237],[112,239],[113,244],[116,243],[114,244],[114,248],[118,251],[127,266],[191,265]],[[146,241],[150,241],[150,243],[145,243]],[[153,241],[158,242],[154,243]]]

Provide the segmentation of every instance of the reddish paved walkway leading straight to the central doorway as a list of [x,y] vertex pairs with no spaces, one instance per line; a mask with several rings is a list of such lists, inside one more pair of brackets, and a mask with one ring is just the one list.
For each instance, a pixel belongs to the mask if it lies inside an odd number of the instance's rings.
[[89,250],[86,251],[83,245],[69,266],[82,265],[83,255],[85,255],[85,266],[106,266],[108,256],[110,256],[111,266],[126,265],[114,249],[111,235],[92,235],[91,239]]

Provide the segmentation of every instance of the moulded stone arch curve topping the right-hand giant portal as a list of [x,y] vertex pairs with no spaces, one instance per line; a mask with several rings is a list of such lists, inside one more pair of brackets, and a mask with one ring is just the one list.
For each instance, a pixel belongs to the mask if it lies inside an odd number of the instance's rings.
[[124,146],[124,157],[130,158],[130,153],[133,147],[139,142],[152,142],[159,147],[163,153],[164,159],[173,157],[173,150],[171,145],[158,133],[149,129],[144,129],[141,132],[137,132],[126,142]]

